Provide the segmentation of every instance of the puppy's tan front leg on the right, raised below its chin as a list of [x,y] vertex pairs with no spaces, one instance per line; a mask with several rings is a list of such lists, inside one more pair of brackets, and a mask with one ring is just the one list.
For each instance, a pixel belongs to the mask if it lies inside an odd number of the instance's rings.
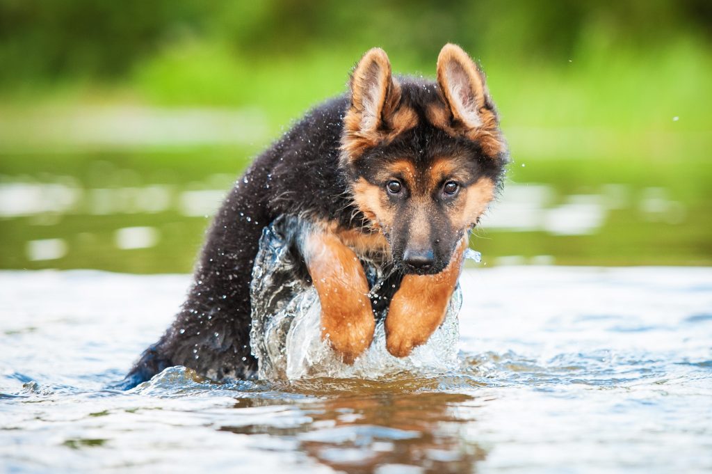
[[468,239],[463,237],[450,264],[434,275],[408,274],[391,300],[386,317],[386,348],[396,357],[405,357],[424,344],[440,326],[457,279],[462,272]]

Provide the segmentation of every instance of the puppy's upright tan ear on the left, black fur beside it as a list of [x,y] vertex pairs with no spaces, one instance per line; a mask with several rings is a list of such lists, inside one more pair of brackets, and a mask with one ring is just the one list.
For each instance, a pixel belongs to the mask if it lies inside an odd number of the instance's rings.
[[347,128],[365,136],[387,124],[400,99],[400,86],[391,76],[391,63],[381,48],[365,53],[350,81],[351,108]]

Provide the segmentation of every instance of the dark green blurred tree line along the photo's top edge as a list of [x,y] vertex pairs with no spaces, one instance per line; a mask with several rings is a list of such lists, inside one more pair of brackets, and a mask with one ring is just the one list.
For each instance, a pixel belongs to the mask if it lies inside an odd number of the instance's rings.
[[182,41],[241,56],[386,46],[429,61],[447,41],[514,60],[566,58],[592,30],[648,48],[679,36],[707,43],[709,0],[0,0],[0,81],[120,79]]

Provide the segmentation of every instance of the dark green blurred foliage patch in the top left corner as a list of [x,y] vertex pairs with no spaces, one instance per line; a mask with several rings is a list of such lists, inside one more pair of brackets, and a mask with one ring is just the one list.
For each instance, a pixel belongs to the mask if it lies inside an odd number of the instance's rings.
[[199,31],[197,0],[1,0],[0,78],[115,77],[164,43]]

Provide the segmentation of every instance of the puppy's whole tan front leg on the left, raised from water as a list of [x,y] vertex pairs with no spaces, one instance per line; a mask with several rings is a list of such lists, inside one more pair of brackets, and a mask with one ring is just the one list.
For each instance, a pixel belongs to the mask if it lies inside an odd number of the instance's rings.
[[310,230],[303,254],[321,302],[322,339],[351,364],[371,345],[375,327],[361,262],[328,230]]

